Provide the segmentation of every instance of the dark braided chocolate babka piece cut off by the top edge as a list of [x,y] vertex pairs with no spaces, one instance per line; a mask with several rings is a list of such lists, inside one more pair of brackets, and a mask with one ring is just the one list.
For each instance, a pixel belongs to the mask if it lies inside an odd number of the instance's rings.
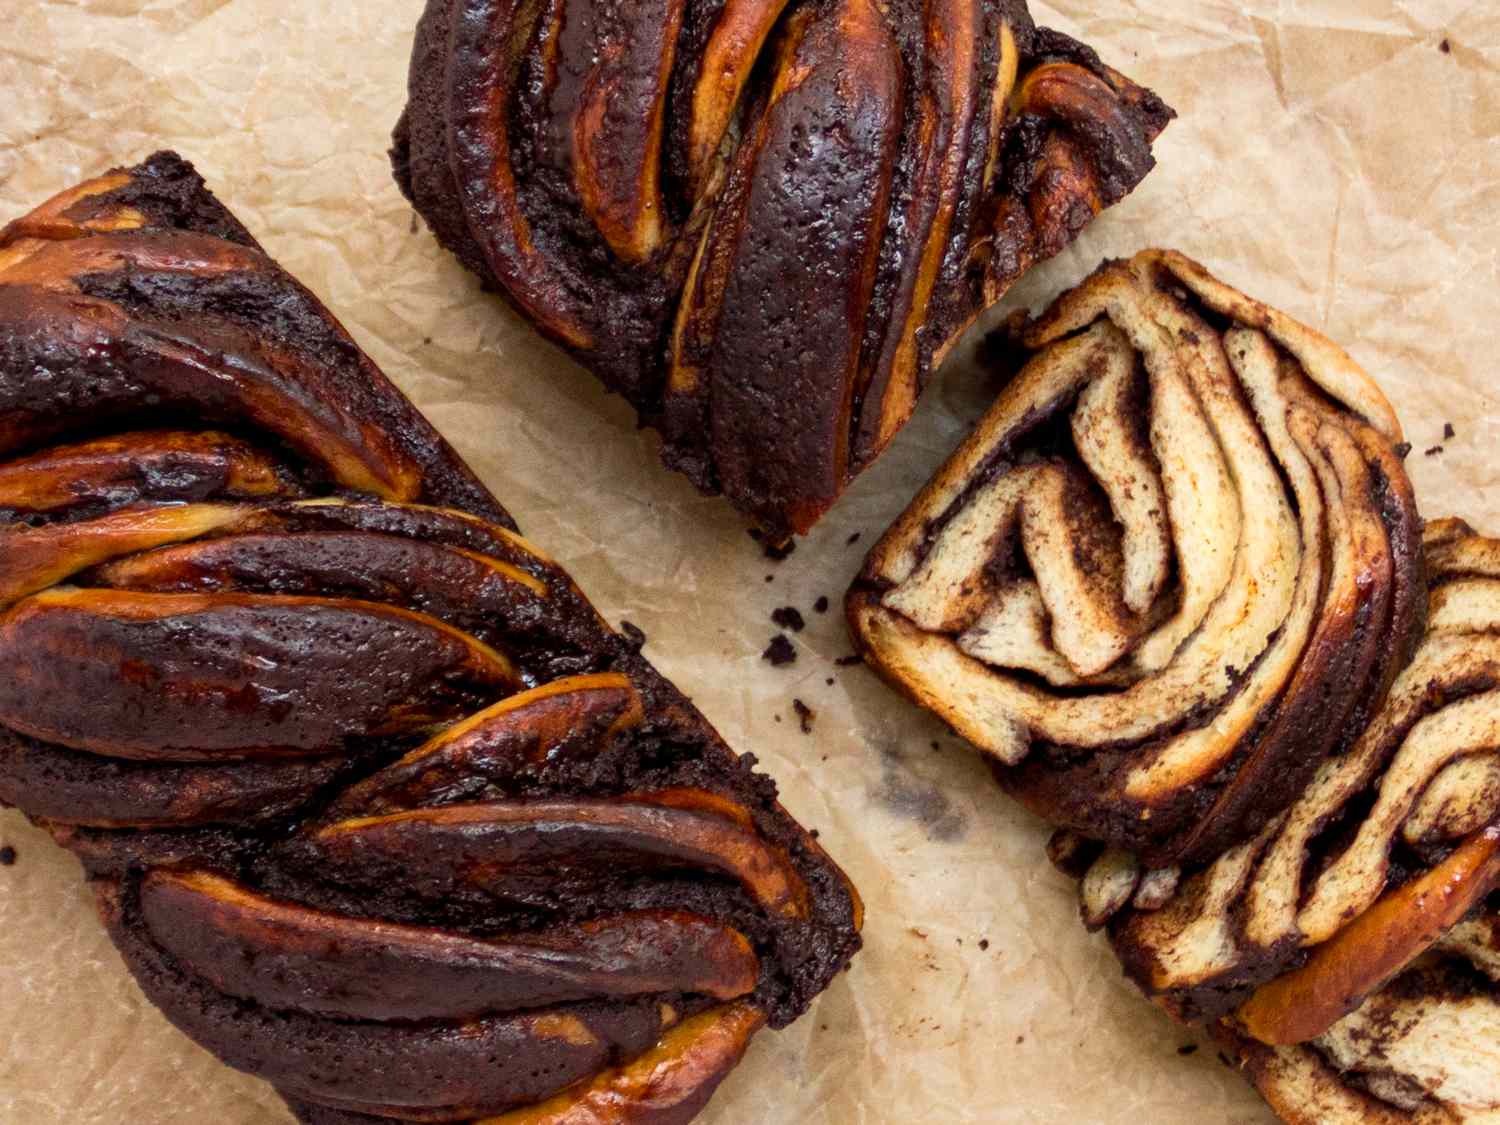
[[669,466],[784,537],[1170,117],[1024,0],[429,0],[393,162]]

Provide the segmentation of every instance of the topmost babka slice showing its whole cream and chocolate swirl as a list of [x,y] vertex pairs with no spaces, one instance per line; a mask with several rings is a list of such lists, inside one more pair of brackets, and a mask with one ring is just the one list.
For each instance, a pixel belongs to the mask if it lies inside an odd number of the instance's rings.
[[1347,750],[1420,621],[1400,424],[1335,345],[1170,252],[1101,267],[870,554],[866,658],[1041,816],[1216,855]]

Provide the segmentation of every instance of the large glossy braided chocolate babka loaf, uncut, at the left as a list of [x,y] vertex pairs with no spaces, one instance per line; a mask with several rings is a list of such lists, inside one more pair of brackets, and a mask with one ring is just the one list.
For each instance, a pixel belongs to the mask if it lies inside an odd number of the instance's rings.
[[180,158],[0,231],[0,801],[320,1125],[693,1118],[852,886]]

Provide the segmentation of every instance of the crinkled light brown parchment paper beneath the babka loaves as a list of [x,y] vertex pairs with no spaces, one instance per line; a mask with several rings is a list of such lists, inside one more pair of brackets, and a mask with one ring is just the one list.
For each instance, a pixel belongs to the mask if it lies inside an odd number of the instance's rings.
[[[834,664],[850,651],[837,606],[864,550],[993,386],[960,350],[885,459],[795,555],[765,560],[726,504],[658,468],[621,400],[416,224],[384,150],[420,8],[0,0],[0,220],[156,147],[195,160],[522,528],[612,620],[646,630],[646,652],[822,830],[868,903],[866,951],[806,1018],[759,1036],[708,1125],[1270,1120],[1084,934],[1072,886],[1042,858],[1044,825],[936,722]],[[1178,246],[1344,342],[1406,420],[1424,512],[1500,532],[1500,10],[1032,8],[1182,117],[1144,186],[1005,309],[1046,302],[1102,255]],[[760,651],[784,604],[808,624],[796,663],[776,669]],[[816,711],[808,735],[794,698]],[[3,1125],[288,1120],[270,1088],[144,1002],[69,856],[15,813],[0,813],[0,844],[18,850],[0,867]]]

